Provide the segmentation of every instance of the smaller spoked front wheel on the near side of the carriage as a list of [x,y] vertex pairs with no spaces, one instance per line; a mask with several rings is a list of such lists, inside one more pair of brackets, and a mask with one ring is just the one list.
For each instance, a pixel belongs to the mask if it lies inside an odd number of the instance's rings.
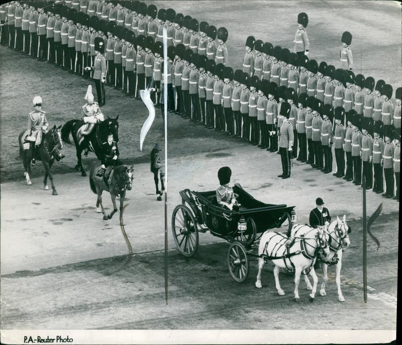
[[249,273],[250,263],[248,261],[246,248],[240,242],[233,242],[228,251],[229,272],[234,280],[243,283]]

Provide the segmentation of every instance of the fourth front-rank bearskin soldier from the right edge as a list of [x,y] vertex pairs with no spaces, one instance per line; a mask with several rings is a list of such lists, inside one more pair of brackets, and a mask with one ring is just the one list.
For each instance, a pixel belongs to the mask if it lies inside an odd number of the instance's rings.
[[373,120],[363,118],[361,121],[363,138],[361,141],[361,160],[363,163],[363,176],[366,179],[366,189],[373,186]]

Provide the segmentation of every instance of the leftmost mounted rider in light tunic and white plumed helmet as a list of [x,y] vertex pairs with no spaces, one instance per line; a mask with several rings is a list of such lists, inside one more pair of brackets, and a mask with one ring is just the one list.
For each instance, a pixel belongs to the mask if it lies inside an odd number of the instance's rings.
[[42,110],[42,97],[35,96],[33,99],[35,110],[31,111],[28,116],[28,136],[25,141],[31,142],[32,147],[32,161],[31,165],[35,165],[35,151],[36,147],[42,142],[43,131],[49,127],[46,120],[46,112]]

